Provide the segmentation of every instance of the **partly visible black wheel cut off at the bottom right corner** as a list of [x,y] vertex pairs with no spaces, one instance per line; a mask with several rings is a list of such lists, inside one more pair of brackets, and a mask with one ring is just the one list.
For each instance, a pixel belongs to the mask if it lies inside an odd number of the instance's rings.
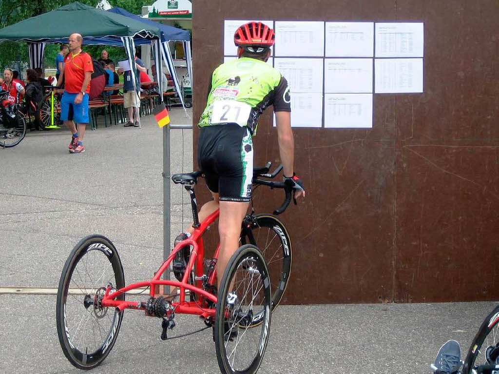
[[[499,364],[499,305],[480,326],[466,356],[462,374],[477,373],[480,365]],[[484,373],[490,373],[486,371]],[[499,373],[493,371],[492,373]]]

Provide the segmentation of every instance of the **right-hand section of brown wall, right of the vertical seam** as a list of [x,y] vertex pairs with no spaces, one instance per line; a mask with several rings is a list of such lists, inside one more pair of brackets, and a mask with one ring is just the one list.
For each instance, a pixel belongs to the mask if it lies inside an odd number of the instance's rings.
[[499,2],[397,8],[425,22],[425,92],[396,97],[395,300],[497,300]]

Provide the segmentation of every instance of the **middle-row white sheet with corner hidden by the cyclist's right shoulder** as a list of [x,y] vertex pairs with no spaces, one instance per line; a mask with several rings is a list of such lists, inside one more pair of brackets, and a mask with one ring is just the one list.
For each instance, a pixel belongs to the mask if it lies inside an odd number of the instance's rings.
[[322,58],[274,58],[274,67],[287,80],[291,93],[322,93]]

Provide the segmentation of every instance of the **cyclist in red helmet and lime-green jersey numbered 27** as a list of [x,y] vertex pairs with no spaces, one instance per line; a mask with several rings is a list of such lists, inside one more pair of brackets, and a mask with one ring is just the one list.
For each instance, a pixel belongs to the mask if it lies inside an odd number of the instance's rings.
[[[240,26],[234,35],[238,59],[217,67],[212,74],[206,108],[201,115],[198,164],[213,195],[203,205],[203,221],[220,208],[220,252],[218,286],[231,256],[239,247],[241,224],[248,211],[253,177],[252,135],[263,110],[273,105],[284,182],[295,197],[305,196],[303,183],[293,170],[294,141],[291,130],[291,98],[286,79],[266,63],[274,44],[274,30],[261,22]],[[180,234],[175,243],[187,239],[194,229]],[[173,263],[182,279],[189,247],[179,251]]]

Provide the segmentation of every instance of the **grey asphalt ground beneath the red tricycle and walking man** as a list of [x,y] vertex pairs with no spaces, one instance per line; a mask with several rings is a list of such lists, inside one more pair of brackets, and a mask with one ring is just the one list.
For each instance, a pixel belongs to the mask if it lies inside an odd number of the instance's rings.
[[[171,118],[190,121],[178,109]],[[0,288],[56,287],[69,251],[90,233],[115,243],[127,282],[162,262],[162,135],[153,119],[142,129],[89,131],[84,154],[70,155],[68,143],[67,132],[34,132],[0,149]],[[172,131],[172,172],[182,170],[192,170],[191,130]],[[172,238],[182,211],[181,189],[172,187]],[[430,373],[440,346],[457,339],[466,351],[494,306],[279,307],[260,373]],[[79,372],[59,347],[55,296],[0,295],[0,315],[0,373]],[[218,373],[210,330],[162,342],[160,325],[125,312],[116,346],[93,373]],[[179,316],[171,335],[202,326]]]

